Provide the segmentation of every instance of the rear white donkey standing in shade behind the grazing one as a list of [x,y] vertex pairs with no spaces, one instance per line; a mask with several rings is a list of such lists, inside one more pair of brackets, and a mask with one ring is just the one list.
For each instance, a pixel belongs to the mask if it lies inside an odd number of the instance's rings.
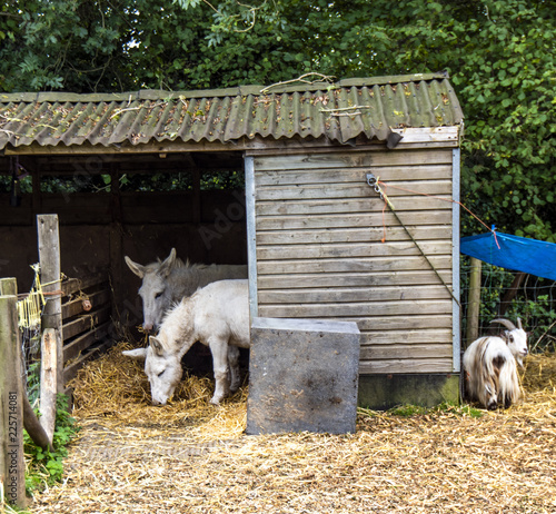
[[147,333],[158,329],[172,304],[191,296],[199,287],[226,278],[247,278],[247,266],[183,263],[176,257],[176,248],[163,261],[142,266],[128,256],[125,260],[129,269],[142,278],[139,296]]

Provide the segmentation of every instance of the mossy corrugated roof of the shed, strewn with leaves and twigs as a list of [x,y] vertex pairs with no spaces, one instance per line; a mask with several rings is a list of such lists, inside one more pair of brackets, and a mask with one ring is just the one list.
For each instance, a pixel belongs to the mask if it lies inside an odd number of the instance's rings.
[[140,145],[240,138],[320,138],[341,144],[391,128],[460,123],[441,73],[357,78],[336,83],[113,95],[0,93],[0,149],[11,145]]

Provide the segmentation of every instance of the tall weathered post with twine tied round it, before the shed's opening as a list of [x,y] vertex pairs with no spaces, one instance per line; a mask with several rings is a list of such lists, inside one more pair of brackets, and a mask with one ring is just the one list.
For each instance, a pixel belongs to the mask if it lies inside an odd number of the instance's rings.
[[[58,215],[37,216],[39,235],[40,279],[44,293],[60,290],[60,234]],[[60,295],[48,296],[42,314],[42,329],[53,328],[56,333],[57,392],[63,394],[63,347],[62,347],[62,300]]]

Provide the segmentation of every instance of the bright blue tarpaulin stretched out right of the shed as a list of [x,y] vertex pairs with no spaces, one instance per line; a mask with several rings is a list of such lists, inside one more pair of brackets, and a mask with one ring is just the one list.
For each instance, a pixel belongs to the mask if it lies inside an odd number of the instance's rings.
[[490,231],[463,237],[459,249],[461,254],[500,268],[556,280],[556,245],[554,243]]

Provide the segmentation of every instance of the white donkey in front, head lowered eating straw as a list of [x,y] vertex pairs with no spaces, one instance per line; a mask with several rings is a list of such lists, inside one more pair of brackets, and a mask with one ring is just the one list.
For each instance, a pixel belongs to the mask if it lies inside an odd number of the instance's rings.
[[216,388],[210,401],[218,405],[229,389],[239,388],[239,349],[250,346],[247,280],[220,280],[183,298],[162,319],[158,336],[147,348],[122,352],[145,358],[153,405],[166,405],[181,379],[181,357],[199,340],[210,348]]

